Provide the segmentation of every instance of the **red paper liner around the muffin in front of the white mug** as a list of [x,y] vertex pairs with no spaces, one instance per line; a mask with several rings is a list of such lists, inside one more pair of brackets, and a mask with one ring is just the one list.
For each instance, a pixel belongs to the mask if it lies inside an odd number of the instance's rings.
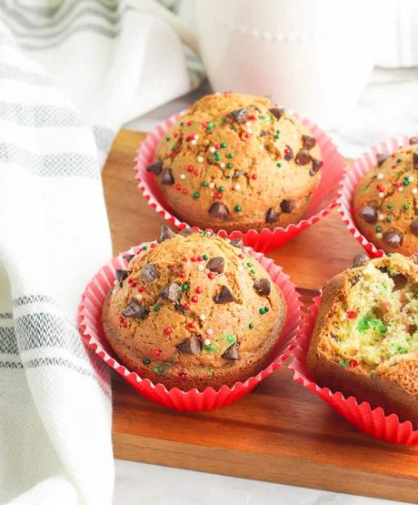
[[[144,141],[139,146],[137,156],[135,157],[135,178],[138,181],[138,187],[143,192],[148,204],[154,208],[160,216],[164,217],[170,224],[179,229],[189,227],[184,221],[180,221],[172,214],[170,207],[164,201],[161,195],[154,174],[147,172],[146,167],[152,163],[154,152],[160,139],[165,135],[165,132],[176,123],[181,114],[164,119],[153,132],[148,134]],[[295,115],[298,117],[297,115]],[[263,228],[262,230],[251,229],[246,233],[239,230],[234,230],[227,233],[225,230],[219,230],[218,235],[221,237],[239,238],[242,237],[245,246],[253,247],[254,250],[260,252],[268,252],[276,247],[282,246],[285,242],[296,236],[319,221],[321,217],[330,213],[331,209],[336,206],[336,197],[340,187],[341,179],[344,173],[345,163],[343,157],[338,152],[336,146],[333,145],[330,137],[323,130],[314,125],[309,119],[300,118],[304,126],[312,132],[318,145],[321,147],[323,156],[323,167],[321,167],[321,182],[314,192],[311,204],[306,212],[306,217],[296,224],[288,225],[287,227]]]

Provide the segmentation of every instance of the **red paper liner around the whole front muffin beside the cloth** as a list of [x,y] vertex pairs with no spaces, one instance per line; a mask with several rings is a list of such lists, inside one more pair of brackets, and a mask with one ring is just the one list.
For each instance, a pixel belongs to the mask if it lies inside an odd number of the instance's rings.
[[195,388],[188,391],[182,391],[178,388],[168,390],[164,384],[153,384],[149,379],[142,379],[137,373],[126,369],[118,361],[114,350],[104,337],[102,306],[107,292],[114,286],[116,268],[126,268],[126,261],[123,256],[125,254],[136,254],[142,246],[132,247],[129,251],[125,251],[117,258],[112,259],[112,261],[101,268],[87,285],[79,307],[79,328],[85,343],[93,348],[95,353],[105,363],[116,370],[119,375],[129,382],[134,389],[144,395],[145,398],[160,403],[165,407],[178,410],[198,411],[225,407],[249,393],[263,379],[271,375],[275,369],[278,369],[284,359],[289,357],[302,320],[302,304],[299,295],[289,276],[284,273],[281,267],[275,265],[272,259],[264,258],[263,254],[256,253],[248,248],[247,252],[263,265],[274,283],[281,288],[287,305],[287,317],[284,328],[272,352],[271,363],[268,367],[254,377],[246,379],[244,382],[235,382],[231,388],[224,385],[219,390],[206,388],[202,391]]

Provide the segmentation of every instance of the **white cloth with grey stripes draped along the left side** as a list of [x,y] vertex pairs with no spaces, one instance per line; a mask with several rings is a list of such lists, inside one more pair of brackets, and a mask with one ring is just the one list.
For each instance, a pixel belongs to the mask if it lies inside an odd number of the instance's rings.
[[101,162],[122,121],[191,86],[179,38],[154,14],[2,2],[0,503],[112,500],[108,370],[76,326],[112,253]]

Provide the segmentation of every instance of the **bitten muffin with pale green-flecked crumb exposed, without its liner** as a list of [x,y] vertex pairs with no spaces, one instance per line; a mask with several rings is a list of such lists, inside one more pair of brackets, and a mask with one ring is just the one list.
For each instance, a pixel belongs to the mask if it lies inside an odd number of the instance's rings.
[[307,355],[321,386],[418,428],[418,257],[355,258],[331,279]]

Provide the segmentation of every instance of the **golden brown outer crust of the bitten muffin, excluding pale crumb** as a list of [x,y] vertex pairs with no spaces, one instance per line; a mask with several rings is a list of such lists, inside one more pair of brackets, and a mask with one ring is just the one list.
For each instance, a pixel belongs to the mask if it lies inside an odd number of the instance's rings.
[[[374,259],[380,267],[395,267],[404,275],[417,276],[417,268],[409,258]],[[330,335],[335,328],[339,304],[347,298],[351,279],[361,275],[364,267],[347,270],[331,279],[323,289],[321,307],[310,342],[306,364],[312,378],[320,386],[368,401],[372,408],[382,407],[386,414],[396,413],[401,420],[411,420],[418,426],[418,357],[393,366],[380,365],[373,373],[359,366],[341,366],[341,356],[335,351]]]

